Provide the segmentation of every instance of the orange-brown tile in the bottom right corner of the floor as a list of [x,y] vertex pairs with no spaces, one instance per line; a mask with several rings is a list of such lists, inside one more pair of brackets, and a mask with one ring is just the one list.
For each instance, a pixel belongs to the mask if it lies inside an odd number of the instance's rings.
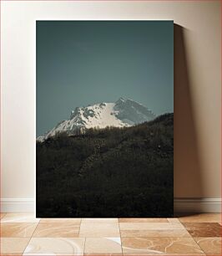
[[221,253],[221,238],[194,238],[204,253]]

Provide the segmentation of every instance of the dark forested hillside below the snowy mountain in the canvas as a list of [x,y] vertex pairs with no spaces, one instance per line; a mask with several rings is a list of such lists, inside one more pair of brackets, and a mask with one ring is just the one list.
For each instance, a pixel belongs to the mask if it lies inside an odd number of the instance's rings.
[[170,217],[174,114],[37,142],[39,218]]

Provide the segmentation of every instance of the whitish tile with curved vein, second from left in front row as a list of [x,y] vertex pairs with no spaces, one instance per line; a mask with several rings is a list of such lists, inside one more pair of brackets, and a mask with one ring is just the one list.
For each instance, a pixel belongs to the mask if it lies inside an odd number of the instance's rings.
[[85,238],[31,238],[23,255],[83,255]]

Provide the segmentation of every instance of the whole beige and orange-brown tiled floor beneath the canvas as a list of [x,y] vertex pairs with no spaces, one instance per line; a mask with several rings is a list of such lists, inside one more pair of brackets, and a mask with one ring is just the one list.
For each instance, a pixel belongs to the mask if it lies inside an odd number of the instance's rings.
[[3,255],[222,255],[220,214],[181,218],[42,218],[1,214]]

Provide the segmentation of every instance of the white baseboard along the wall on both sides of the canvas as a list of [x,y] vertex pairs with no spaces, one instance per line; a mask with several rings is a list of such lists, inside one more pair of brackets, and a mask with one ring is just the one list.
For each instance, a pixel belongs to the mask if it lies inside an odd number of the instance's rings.
[[[2,198],[1,212],[35,212],[34,198]],[[174,198],[174,212],[221,212],[221,198]]]

